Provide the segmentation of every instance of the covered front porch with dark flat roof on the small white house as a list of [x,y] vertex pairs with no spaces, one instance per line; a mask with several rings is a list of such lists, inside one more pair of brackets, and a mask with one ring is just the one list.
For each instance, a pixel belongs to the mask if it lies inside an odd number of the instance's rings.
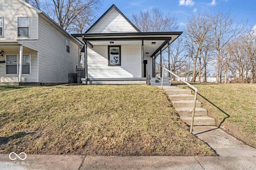
[[160,57],[162,70],[162,51],[169,49],[181,33],[73,34],[84,44],[81,52],[84,53],[85,78],[82,81],[84,84],[146,84],[146,77],[150,76],[151,83],[158,83],[156,58]]

